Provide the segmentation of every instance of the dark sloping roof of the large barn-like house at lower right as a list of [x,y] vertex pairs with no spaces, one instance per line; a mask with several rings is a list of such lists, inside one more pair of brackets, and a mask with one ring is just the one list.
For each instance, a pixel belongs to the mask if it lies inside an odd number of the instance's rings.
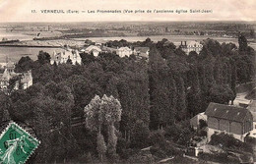
[[229,121],[243,122],[245,117],[250,114],[245,108],[228,106],[211,102],[206,109],[205,114],[209,117],[225,119]]

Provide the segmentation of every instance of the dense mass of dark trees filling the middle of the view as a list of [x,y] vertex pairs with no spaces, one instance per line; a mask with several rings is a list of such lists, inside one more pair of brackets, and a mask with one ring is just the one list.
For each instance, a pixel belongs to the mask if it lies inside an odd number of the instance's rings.
[[[238,49],[207,39],[200,54],[189,55],[166,39],[121,43],[151,47],[149,62],[82,53],[83,65],[57,66],[42,51],[36,61],[23,57],[18,62],[16,72],[32,69],[33,85],[2,94],[1,111],[34,128],[42,142],[36,162],[105,152],[111,158],[115,151],[125,158],[129,149],[151,144],[150,130],[178,129],[179,122],[205,111],[209,102],[233,100],[236,82],[254,76],[254,50],[245,43]],[[72,128],[71,118],[84,116],[87,127]]]

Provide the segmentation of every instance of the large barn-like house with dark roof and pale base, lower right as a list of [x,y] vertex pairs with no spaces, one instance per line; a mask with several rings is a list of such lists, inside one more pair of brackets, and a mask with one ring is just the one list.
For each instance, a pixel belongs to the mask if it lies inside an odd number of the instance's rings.
[[205,112],[208,122],[208,140],[224,132],[244,141],[253,126],[253,116],[247,109],[211,102]]

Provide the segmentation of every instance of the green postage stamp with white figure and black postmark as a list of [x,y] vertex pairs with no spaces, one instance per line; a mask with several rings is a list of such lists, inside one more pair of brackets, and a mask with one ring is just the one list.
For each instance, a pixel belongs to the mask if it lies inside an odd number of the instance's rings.
[[0,164],[24,164],[39,141],[16,123],[10,123],[0,136]]

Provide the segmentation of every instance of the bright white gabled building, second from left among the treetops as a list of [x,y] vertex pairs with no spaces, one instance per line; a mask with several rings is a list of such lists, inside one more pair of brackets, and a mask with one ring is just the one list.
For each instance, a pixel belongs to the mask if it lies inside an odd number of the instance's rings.
[[63,64],[67,63],[67,61],[70,60],[73,65],[82,63],[82,58],[80,57],[80,54],[78,53],[78,50],[72,50],[72,49],[64,49],[61,52],[53,52],[50,60],[50,64],[53,65],[54,63]]

